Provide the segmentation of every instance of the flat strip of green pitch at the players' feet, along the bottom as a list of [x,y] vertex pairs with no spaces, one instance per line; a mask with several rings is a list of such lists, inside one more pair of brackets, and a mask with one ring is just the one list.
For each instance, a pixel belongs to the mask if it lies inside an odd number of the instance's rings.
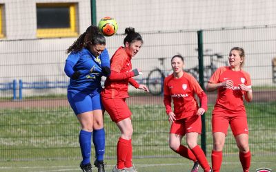
[[[210,158],[208,157],[210,162]],[[185,158],[139,158],[133,162],[139,172],[183,172],[189,171],[193,162]],[[275,156],[253,156],[250,171],[266,167],[275,171]],[[115,160],[106,160],[106,171],[112,171]],[[79,169],[79,160],[37,160],[37,161],[17,161],[17,162],[0,162],[0,171],[81,171]],[[95,168],[92,171],[97,171]],[[202,169],[200,169],[201,172]],[[242,171],[238,155],[225,156],[221,164],[223,172]]]

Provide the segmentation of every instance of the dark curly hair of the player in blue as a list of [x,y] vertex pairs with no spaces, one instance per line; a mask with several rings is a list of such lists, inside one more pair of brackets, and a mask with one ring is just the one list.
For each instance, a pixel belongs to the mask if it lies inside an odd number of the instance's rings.
[[81,34],[79,38],[66,50],[67,53],[79,52],[83,47],[91,43],[92,45],[106,45],[106,38],[99,32],[99,28],[95,25],[90,25],[86,32]]

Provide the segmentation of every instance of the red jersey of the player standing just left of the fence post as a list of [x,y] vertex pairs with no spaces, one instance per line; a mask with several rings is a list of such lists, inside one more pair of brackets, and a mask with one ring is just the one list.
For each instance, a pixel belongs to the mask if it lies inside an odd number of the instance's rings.
[[[181,78],[175,78],[172,74],[164,80],[164,105],[166,113],[172,111],[171,100],[173,100],[174,114],[176,120],[188,118],[197,113],[198,104],[195,94],[201,99],[201,107],[207,110],[207,96],[190,74],[184,72]],[[203,96],[200,96],[203,95]]]

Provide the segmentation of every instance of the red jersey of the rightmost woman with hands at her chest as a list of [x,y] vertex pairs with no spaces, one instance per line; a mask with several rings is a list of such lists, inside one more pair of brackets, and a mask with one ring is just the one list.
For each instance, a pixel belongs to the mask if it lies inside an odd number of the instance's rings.
[[239,84],[251,88],[250,75],[244,70],[233,71],[230,67],[219,67],[211,76],[209,83],[223,83],[225,80],[233,80],[233,87],[219,87],[217,89],[217,102],[214,111],[230,110],[233,113],[245,111],[243,95]]

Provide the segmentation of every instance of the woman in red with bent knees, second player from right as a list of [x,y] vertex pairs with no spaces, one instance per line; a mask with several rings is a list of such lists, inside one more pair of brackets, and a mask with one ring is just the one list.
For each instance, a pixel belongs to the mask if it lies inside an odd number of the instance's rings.
[[[184,58],[175,55],[171,59],[173,73],[164,80],[164,105],[170,126],[170,149],[190,160],[194,166],[192,172],[198,171],[199,164],[204,171],[212,171],[204,154],[197,145],[197,137],[201,133],[201,115],[207,111],[207,96],[190,74],[184,72]],[[197,105],[195,94],[200,99]],[[174,111],[171,101],[173,100]],[[186,135],[188,148],[181,144]]]

